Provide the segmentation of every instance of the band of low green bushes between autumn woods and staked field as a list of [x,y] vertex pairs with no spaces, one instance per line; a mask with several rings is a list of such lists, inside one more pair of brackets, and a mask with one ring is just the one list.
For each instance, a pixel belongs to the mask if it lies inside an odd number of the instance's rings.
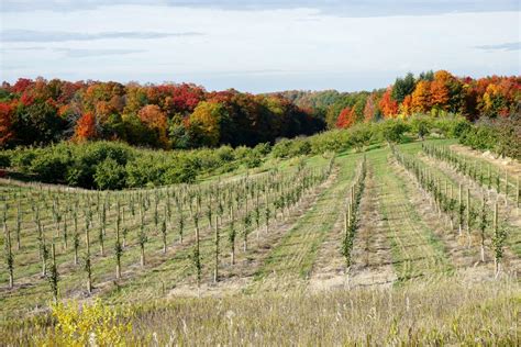
[[[519,126],[507,123],[501,123],[501,126],[492,128],[478,124],[475,128],[462,116],[413,115],[404,120],[357,123],[347,130],[333,130],[310,137],[282,138],[274,146],[262,143],[253,148],[226,145],[215,149],[165,152],[137,149],[111,142],[59,143],[45,148],[5,150],[2,152],[2,160],[12,169],[44,182],[89,189],[158,187],[195,182],[199,175],[224,174],[240,166],[259,167],[268,156],[287,159],[351,148],[363,150],[375,143],[403,143],[411,137],[422,138],[430,134],[445,137],[461,135],[462,141],[470,143],[477,136],[485,142],[478,143],[478,148],[496,143],[495,146],[501,146],[505,153],[516,154],[521,145],[507,143],[519,143]],[[483,132],[489,134],[485,139]],[[502,139],[499,139],[500,135],[503,135]]]

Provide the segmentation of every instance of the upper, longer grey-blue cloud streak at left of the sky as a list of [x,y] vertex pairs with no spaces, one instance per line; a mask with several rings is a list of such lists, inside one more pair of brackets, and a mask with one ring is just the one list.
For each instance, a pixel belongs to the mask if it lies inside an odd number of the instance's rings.
[[200,36],[202,33],[153,33],[153,32],[101,32],[101,33],[74,33],[74,32],[40,32],[33,30],[7,30],[1,32],[3,42],[66,42],[66,41],[93,41],[110,38],[152,40],[164,37]]

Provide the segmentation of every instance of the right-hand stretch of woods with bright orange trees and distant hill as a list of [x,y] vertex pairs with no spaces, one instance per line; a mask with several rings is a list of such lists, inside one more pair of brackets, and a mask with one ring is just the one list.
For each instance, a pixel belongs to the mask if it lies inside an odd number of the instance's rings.
[[461,114],[468,121],[484,116],[505,119],[519,113],[521,77],[474,79],[457,77],[446,70],[418,76],[409,72],[389,87],[372,92],[293,90],[282,96],[300,108],[313,110],[315,116],[325,120],[329,128],[425,113],[434,116]]

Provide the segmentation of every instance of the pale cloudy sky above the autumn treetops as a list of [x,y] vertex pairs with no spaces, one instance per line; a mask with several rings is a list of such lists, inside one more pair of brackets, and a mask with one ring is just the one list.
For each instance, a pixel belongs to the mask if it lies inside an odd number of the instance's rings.
[[373,90],[521,75],[518,0],[1,0],[0,80]]

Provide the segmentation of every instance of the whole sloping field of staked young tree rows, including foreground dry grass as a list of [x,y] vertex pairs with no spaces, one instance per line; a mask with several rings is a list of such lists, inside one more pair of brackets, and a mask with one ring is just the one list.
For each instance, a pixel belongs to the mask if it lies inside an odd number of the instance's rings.
[[158,189],[3,180],[0,345],[69,342],[96,299],[109,345],[519,345],[520,175],[429,139]]

